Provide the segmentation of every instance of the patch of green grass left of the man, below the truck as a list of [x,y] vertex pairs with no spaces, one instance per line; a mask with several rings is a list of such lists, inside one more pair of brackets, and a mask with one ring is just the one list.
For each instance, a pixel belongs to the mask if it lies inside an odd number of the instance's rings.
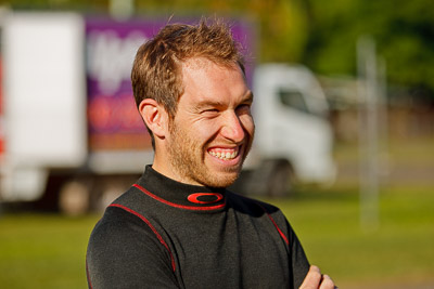
[[87,288],[86,247],[97,219],[1,215],[1,288]]

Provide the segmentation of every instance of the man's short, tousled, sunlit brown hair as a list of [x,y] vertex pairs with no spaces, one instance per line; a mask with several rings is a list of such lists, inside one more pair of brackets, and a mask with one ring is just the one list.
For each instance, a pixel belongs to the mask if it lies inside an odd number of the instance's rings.
[[[131,82],[137,106],[144,98],[153,98],[174,119],[179,96],[183,93],[181,64],[194,57],[227,67],[239,65],[244,73],[239,43],[224,21],[169,24],[142,44],[136,54]],[[154,145],[154,139],[152,141]]]

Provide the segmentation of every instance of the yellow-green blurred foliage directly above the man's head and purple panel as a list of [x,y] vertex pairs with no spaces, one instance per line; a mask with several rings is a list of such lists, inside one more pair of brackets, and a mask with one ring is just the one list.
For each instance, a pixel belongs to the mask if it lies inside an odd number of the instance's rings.
[[138,14],[151,8],[170,15],[242,16],[254,21],[259,32],[259,62],[299,62],[307,41],[303,0],[138,0]]

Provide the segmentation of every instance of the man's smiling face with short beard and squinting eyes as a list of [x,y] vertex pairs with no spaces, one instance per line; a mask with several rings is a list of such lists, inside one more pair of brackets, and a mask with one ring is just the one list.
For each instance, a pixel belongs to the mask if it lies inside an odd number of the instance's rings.
[[252,145],[253,101],[240,67],[203,58],[182,64],[184,93],[167,136],[170,166],[181,182],[232,184]]

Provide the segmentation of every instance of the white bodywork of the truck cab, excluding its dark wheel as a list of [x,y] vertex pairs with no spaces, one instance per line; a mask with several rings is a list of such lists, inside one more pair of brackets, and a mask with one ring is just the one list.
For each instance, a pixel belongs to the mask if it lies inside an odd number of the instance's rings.
[[[286,159],[303,181],[333,180],[328,103],[314,75],[302,66],[263,65],[255,70],[254,94],[256,135],[252,159]],[[289,102],[297,107],[283,104],[282,94],[292,97]]]

